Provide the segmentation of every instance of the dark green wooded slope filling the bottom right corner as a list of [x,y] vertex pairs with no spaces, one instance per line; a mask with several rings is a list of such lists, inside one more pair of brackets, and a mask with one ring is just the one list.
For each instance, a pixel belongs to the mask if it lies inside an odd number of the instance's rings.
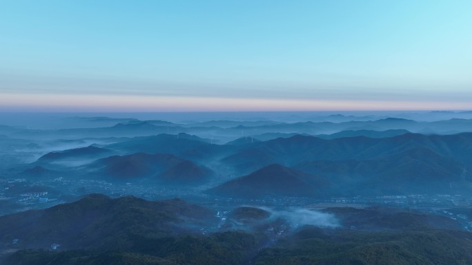
[[365,232],[326,234],[306,227],[291,240],[266,248],[256,265],[462,265],[472,264],[472,235],[454,231]]

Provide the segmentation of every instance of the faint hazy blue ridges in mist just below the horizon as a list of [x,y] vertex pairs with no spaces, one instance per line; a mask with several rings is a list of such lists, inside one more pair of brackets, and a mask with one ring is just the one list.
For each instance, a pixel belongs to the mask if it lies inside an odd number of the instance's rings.
[[[153,136],[156,134],[195,134],[201,138],[213,138],[222,143],[240,137],[269,140],[271,134],[332,135],[342,131],[389,131],[407,130],[420,134],[457,134],[472,131],[472,115],[468,112],[435,113],[444,120],[424,118],[427,115],[397,115],[396,118],[381,116],[318,116],[287,120],[208,120],[204,122],[170,123],[165,120],[138,120],[136,118],[72,118],[76,128],[27,129],[1,125],[0,134],[12,138],[46,140],[48,138],[105,138]],[[415,120],[415,117],[423,117]],[[400,118],[403,117],[403,118]],[[290,119],[288,119],[290,120]],[[262,137],[265,135],[266,137]],[[364,136],[368,136],[363,134]],[[392,136],[393,134],[391,134]],[[371,135],[372,137],[374,134]],[[283,136],[282,136],[283,137]],[[327,136],[332,138],[333,136]]]

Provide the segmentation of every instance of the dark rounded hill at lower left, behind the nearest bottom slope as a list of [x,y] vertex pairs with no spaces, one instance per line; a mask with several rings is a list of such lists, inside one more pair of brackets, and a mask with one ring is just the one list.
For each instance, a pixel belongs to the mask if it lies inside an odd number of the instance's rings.
[[215,222],[213,211],[183,200],[150,202],[132,196],[88,195],[46,210],[0,216],[0,244],[17,247],[132,249],[144,237],[199,231]]

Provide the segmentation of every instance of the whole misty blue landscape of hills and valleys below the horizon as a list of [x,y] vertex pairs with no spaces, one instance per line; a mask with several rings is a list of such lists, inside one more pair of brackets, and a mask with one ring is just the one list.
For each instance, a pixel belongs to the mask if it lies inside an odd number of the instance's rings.
[[472,264],[472,112],[0,124],[0,264]]

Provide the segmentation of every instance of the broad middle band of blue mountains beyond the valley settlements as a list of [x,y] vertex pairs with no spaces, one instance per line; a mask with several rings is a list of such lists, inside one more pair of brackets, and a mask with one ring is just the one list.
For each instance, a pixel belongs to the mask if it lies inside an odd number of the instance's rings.
[[[245,197],[254,197],[256,193],[260,193],[259,197],[264,194],[319,197],[469,193],[472,189],[472,156],[469,156],[472,153],[472,133],[424,135],[404,130],[344,131],[333,137],[324,139],[297,134],[267,141],[249,142],[248,138],[240,138],[227,145],[215,145],[207,139],[188,134],[159,134],[124,139],[102,147],[91,145],[46,153],[22,171],[23,175],[28,175],[34,170],[27,169],[38,167],[35,169],[38,176],[52,176],[53,171],[73,168],[75,172],[93,178],[146,180],[159,185],[187,187],[206,184],[216,175],[250,176],[244,181],[236,182],[235,179],[233,185],[236,186],[232,189],[228,183],[226,188],[215,187],[215,191],[221,189],[215,194],[222,195],[222,190],[225,190],[228,195]],[[121,155],[110,156],[115,153]],[[276,176],[276,171],[288,170],[273,168],[271,172],[265,168],[273,164],[317,176],[320,182],[311,182],[315,178],[302,178],[293,172],[288,174],[291,176],[272,180],[264,174]],[[255,174],[259,169],[264,170]],[[46,173],[46,170],[51,171]],[[300,189],[282,191],[267,183],[261,189],[251,191],[251,184],[244,184],[247,190],[236,192],[239,182],[250,179],[280,182],[281,187],[293,182]],[[325,185],[323,192],[317,190],[318,184]],[[310,192],[306,187],[310,187]]]

